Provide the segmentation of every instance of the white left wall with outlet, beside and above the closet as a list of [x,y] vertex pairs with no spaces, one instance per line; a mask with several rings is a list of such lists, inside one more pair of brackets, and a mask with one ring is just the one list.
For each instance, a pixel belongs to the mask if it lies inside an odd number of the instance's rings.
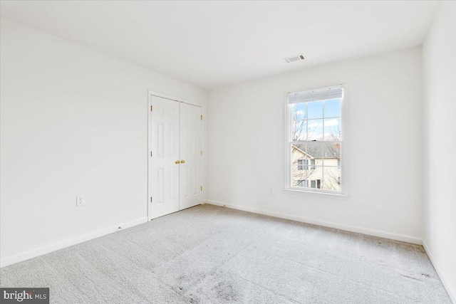
[[146,220],[147,90],[206,102],[193,85],[1,19],[2,266]]

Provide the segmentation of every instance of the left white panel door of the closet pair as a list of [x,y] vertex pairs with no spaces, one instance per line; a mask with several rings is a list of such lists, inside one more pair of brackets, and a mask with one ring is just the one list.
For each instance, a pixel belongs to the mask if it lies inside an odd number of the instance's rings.
[[179,104],[151,96],[149,219],[179,211]]

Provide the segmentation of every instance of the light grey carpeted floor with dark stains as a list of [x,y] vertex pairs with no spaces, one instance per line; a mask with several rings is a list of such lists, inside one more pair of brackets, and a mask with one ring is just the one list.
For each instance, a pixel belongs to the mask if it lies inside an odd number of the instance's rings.
[[51,303],[451,303],[422,246],[207,204],[0,278]]

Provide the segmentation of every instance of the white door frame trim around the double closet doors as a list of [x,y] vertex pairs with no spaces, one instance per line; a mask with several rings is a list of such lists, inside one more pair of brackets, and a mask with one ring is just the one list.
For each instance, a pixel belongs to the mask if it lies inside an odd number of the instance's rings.
[[[194,101],[190,101],[190,100],[185,100],[183,98],[178,98],[178,97],[175,97],[175,96],[172,96],[172,95],[167,95],[167,94],[163,94],[163,93],[158,93],[158,92],[154,92],[152,90],[147,90],[147,209],[146,209],[146,212],[147,212],[147,221],[150,221],[151,218],[149,216],[149,209],[150,209],[150,203],[151,203],[151,198],[152,198],[152,186],[150,184],[150,181],[152,180],[152,156],[150,156],[151,152],[152,152],[152,141],[150,140],[150,137],[151,137],[151,134],[150,134],[150,129],[152,127],[152,111],[151,111],[151,107],[152,107],[152,96],[155,96],[155,97],[159,97],[159,98],[165,98],[165,99],[169,99],[169,100],[173,100],[173,101],[177,101],[178,103],[187,103],[188,105],[195,105],[199,108],[201,108],[201,112],[202,112],[202,115],[204,117],[204,105],[202,105],[202,103],[196,103]],[[202,150],[203,150],[203,158],[202,158],[202,184],[203,184],[203,199],[204,197],[206,197],[205,195],[205,191],[206,191],[206,187],[205,187],[205,176],[204,176],[204,171],[205,171],[205,166],[206,166],[206,156],[205,156],[205,142],[204,142],[204,125],[205,125],[205,122],[203,120],[203,123],[202,123],[202,127],[201,127],[201,132],[202,132]]]

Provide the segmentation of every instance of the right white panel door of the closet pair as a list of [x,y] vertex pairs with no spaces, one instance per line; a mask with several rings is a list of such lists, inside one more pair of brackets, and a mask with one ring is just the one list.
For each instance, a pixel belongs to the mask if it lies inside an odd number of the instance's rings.
[[201,108],[180,104],[180,210],[201,204],[202,120]]

